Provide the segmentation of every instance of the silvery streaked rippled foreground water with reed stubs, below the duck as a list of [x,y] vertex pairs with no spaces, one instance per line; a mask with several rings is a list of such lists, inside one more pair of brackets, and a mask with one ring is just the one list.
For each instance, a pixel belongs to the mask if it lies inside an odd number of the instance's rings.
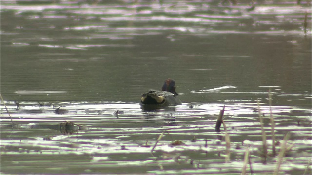
[[[138,103],[122,102],[59,102],[54,108],[28,102],[19,109],[14,102],[6,103],[13,121],[20,125],[11,129],[10,118],[1,108],[3,173],[232,174],[241,172],[246,147],[251,152],[254,173],[275,169],[276,157],[262,164],[259,156],[261,130],[254,112],[257,106],[252,103],[193,103],[193,108],[184,103],[154,112],[143,112]],[[231,161],[226,163],[224,133],[215,132],[223,105],[231,138]],[[58,106],[63,106],[63,111],[55,113]],[[119,114],[115,113],[117,110]],[[269,107],[262,105],[261,111],[269,136],[267,144],[271,147]],[[272,112],[276,138],[282,140],[289,132],[291,139],[287,144],[293,144],[284,158],[282,171],[311,173],[311,109],[273,106]],[[72,135],[63,135],[59,123],[64,120],[85,127]],[[151,154],[163,132],[165,136]],[[194,138],[196,141],[191,141]],[[184,144],[171,146],[174,140]]]

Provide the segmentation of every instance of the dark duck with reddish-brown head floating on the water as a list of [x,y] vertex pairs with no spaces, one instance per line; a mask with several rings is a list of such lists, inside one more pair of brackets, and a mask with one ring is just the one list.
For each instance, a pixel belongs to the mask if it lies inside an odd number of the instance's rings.
[[141,95],[141,106],[176,106],[182,105],[176,93],[176,82],[173,79],[166,79],[161,90],[150,89]]

